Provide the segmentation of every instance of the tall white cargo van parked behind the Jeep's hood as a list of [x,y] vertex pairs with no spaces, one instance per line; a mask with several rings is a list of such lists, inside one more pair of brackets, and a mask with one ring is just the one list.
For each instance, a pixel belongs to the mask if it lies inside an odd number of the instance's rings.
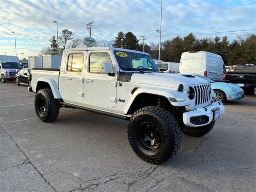
[[198,74],[212,80],[223,81],[226,69],[220,55],[205,51],[190,51],[182,53],[179,72]]

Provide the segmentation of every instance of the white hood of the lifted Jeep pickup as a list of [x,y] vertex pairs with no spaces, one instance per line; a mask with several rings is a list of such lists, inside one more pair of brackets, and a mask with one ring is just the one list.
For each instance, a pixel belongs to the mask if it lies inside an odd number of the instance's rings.
[[184,88],[187,88],[189,85],[209,83],[203,78],[194,75],[154,72],[134,73],[131,76],[130,82],[170,88],[178,88],[179,84],[183,84]]

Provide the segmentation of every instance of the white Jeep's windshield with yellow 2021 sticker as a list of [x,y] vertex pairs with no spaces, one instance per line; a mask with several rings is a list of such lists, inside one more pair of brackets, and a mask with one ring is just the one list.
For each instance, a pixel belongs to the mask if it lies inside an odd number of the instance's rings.
[[114,51],[116,60],[122,70],[150,70],[158,71],[158,68],[148,54],[128,52],[128,51]]

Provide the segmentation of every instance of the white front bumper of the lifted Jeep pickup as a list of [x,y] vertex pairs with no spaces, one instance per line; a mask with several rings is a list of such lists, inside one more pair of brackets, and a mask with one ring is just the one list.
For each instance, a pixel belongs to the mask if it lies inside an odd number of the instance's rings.
[[[183,114],[183,123],[186,126],[189,127],[200,127],[209,124],[212,122],[214,118],[214,112],[212,110],[220,109],[220,116],[222,116],[225,112],[224,105],[222,102],[213,102],[211,105],[206,106],[206,107],[200,107],[197,108],[196,110],[185,112]],[[193,118],[200,118],[204,119],[203,124],[195,124],[192,122]]]

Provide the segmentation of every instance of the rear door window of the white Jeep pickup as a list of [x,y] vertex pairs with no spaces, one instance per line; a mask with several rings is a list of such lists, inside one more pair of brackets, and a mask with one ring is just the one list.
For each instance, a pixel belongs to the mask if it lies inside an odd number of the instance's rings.
[[83,53],[71,53],[68,55],[68,71],[82,72],[83,63]]

